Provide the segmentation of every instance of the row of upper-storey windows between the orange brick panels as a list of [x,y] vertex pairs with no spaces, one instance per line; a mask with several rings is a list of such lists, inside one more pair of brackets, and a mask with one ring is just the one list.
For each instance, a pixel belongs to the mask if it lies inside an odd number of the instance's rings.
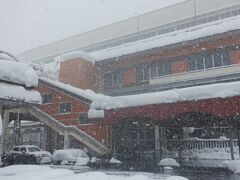
[[[230,50],[219,49],[215,51],[206,51],[185,57],[188,67],[186,71],[197,71],[203,69],[211,69],[223,67],[231,64]],[[151,64],[143,64],[137,66],[137,81],[149,81],[152,78],[170,75],[171,61],[161,60]],[[120,86],[123,82],[123,73],[119,70],[105,74],[105,87]]]

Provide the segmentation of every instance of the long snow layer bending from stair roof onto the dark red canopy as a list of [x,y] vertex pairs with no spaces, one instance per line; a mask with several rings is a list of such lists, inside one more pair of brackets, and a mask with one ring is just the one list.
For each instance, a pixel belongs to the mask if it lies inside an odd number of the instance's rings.
[[41,77],[40,80],[90,100],[92,103],[88,112],[89,118],[103,118],[104,110],[108,109],[176,103],[182,101],[197,101],[211,98],[226,98],[240,95],[240,81],[173,89],[138,95],[111,97],[103,94],[97,94],[92,90],[79,89],[71,85],[53,81],[47,78]]

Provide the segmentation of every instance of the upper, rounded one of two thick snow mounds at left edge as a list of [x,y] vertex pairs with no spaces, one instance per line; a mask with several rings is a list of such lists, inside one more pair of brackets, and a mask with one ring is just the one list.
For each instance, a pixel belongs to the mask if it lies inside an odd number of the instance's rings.
[[0,61],[0,80],[26,87],[37,87],[38,85],[38,77],[33,68],[14,61]]

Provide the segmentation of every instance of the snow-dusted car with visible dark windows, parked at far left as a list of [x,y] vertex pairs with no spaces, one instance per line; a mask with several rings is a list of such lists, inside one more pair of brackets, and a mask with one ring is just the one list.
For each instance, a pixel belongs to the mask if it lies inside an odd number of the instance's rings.
[[12,164],[42,164],[51,163],[52,155],[37,146],[14,146],[10,152],[2,156],[4,166]]

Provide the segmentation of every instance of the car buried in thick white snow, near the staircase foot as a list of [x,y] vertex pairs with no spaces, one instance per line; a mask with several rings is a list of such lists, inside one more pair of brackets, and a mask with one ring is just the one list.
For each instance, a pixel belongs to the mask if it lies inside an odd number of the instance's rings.
[[54,151],[52,155],[52,162],[54,164],[69,164],[87,165],[90,161],[87,153],[80,149],[62,149]]

